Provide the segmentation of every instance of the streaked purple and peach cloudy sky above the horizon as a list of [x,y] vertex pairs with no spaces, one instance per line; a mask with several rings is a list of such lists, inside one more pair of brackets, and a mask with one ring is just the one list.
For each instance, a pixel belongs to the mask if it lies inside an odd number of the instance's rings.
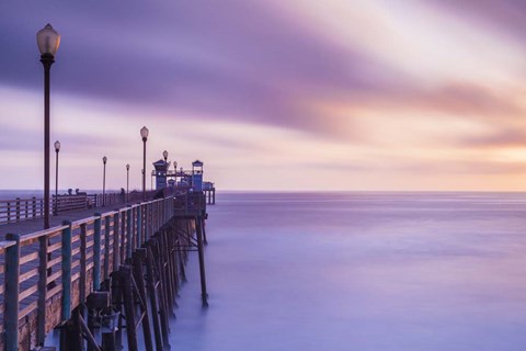
[[2,1],[0,189],[43,188],[47,23],[60,189],[140,189],[146,125],[218,190],[526,190],[525,1]]

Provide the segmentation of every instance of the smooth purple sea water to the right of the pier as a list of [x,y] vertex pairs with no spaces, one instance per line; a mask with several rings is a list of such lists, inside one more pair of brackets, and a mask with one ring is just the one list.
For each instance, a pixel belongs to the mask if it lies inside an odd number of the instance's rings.
[[526,350],[526,194],[227,193],[174,350]]

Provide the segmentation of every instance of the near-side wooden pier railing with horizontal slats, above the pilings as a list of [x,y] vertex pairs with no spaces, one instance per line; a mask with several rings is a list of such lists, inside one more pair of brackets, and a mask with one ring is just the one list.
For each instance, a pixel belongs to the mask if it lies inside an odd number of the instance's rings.
[[170,196],[28,235],[8,234],[0,241],[0,343],[16,350],[44,342],[173,213]]

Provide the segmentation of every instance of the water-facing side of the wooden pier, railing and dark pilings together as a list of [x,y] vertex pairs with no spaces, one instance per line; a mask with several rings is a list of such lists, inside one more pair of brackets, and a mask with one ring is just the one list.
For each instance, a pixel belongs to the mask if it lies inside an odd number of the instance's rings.
[[0,349],[35,350],[55,329],[60,350],[169,350],[169,320],[188,251],[198,252],[202,302],[208,305],[210,200],[206,191],[187,192],[24,236],[8,234],[0,242]]

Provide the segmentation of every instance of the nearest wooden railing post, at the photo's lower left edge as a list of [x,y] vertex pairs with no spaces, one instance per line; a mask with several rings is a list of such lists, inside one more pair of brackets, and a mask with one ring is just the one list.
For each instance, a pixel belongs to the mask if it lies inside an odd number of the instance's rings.
[[5,293],[3,329],[5,333],[5,350],[19,349],[19,280],[20,280],[20,235],[7,234],[7,240],[16,245],[5,249]]

